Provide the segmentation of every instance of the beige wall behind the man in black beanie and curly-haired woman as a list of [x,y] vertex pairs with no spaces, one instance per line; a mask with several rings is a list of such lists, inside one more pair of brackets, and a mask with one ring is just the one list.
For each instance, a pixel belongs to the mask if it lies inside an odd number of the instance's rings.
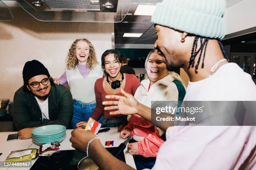
[[98,61],[112,47],[113,23],[42,22],[21,8],[11,11],[14,20],[0,22],[0,98],[13,100],[15,91],[23,85],[22,70],[28,60],[39,60],[52,77],[59,77],[75,39],[90,40]]

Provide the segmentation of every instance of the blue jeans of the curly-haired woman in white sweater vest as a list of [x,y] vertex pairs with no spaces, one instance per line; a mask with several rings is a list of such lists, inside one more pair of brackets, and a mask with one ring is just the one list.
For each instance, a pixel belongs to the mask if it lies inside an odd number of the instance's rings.
[[[85,104],[74,100],[74,113],[71,120],[72,129],[77,128],[77,123],[82,121],[88,121],[91,117],[94,109],[96,107],[96,103]],[[102,116],[97,120],[102,123]]]

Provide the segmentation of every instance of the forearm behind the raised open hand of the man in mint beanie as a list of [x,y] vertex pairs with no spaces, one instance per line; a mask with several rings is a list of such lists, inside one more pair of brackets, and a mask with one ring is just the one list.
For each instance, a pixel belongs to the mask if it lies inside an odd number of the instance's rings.
[[[147,107],[146,105],[138,103],[138,113],[137,114],[140,115],[141,117],[143,117],[144,119],[152,122],[152,120],[151,120],[151,108],[150,107]],[[161,115],[165,115],[165,114],[161,113]],[[170,115],[170,114],[166,114],[166,115],[174,117],[174,115]],[[161,121],[154,121],[154,124],[157,127],[159,127],[160,129],[164,130],[164,131],[166,131],[167,128],[169,128],[170,126],[174,126],[174,122],[170,122],[170,125],[162,125]]]

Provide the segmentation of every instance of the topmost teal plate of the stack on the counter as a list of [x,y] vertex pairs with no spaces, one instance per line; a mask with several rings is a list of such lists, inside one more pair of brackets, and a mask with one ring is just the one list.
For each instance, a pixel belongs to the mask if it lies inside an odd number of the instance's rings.
[[59,134],[64,130],[66,130],[66,127],[63,125],[46,125],[34,129],[32,134],[38,136],[51,136]]

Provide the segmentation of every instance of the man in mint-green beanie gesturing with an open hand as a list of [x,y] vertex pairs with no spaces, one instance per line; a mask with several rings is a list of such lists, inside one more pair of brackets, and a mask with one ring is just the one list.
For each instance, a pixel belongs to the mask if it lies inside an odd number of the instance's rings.
[[[184,68],[190,81],[184,100],[256,101],[256,86],[250,75],[229,63],[220,39],[225,35],[225,0],[163,0],[152,16],[155,48],[168,67]],[[151,108],[132,95],[109,95],[118,101],[103,102],[110,114],[138,114],[151,121]],[[172,116],[172,115],[170,115]],[[256,128],[251,126],[174,126],[154,124],[166,130],[154,170],[253,169]],[[72,146],[84,150],[101,169],[132,169],[103,148],[89,131],[74,130]],[[89,144],[88,144],[88,141]],[[92,142],[93,141],[93,142]],[[93,153],[93,154],[90,154]],[[110,169],[111,169],[110,168]]]

